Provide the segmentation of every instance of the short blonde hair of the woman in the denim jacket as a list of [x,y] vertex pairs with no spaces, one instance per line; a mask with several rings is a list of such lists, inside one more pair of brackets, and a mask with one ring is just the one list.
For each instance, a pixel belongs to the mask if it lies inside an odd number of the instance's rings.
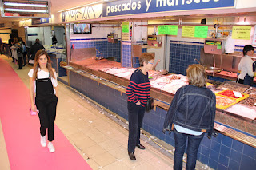
[[189,65],[186,69],[186,76],[189,79],[190,85],[196,85],[198,87],[206,86],[206,71],[202,65]]

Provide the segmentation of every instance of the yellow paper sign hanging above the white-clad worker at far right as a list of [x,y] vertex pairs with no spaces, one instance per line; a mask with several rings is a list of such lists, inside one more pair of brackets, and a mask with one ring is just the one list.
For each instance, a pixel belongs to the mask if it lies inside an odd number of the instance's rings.
[[250,40],[251,26],[233,26],[232,38]]

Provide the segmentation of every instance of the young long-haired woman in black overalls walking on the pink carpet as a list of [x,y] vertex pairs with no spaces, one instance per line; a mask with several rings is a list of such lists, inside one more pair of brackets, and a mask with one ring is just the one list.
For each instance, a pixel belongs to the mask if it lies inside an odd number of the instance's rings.
[[[40,120],[40,143],[42,147],[46,147],[46,129],[48,129],[49,152],[55,152],[52,141],[54,140],[54,121],[58,102],[58,81],[57,73],[51,67],[50,57],[45,50],[38,50],[34,58],[34,67],[30,69],[28,75],[30,77],[31,109],[38,110]],[[35,92],[34,89],[36,89]]]

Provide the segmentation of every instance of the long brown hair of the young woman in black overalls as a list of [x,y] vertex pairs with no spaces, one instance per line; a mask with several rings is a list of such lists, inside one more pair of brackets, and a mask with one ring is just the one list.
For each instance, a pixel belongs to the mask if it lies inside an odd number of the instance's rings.
[[50,57],[48,56],[48,54],[46,53],[46,51],[44,49],[41,49],[41,50],[38,50],[38,52],[35,54],[35,57],[34,57],[34,73],[33,73],[33,79],[35,80],[37,78],[37,75],[38,75],[38,69],[40,68],[40,65],[38,63],[38,60],[39,58],[42,56],[42,55],[46,55],[47,57],[47,64],[46,64],[46,68],[48,69],[49,73],[50,73],[50,77],[53,77],[55,78],[54,76],[54,71],[51,67],[51,62],[50,62]]

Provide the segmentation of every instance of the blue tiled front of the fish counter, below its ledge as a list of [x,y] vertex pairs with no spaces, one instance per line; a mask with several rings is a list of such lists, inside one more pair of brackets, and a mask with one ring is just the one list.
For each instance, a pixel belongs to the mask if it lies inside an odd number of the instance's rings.
[[[70,71],[70,86],[128,120],[126,94],[73,71]],[[152,110],[150,113],[145,113],[142,128],[158,139],[174,146],[173,133],[170,135],[162,133],[165,117],[166,110],[157,107],[156,111]],[[256,138],[256,136],[254,137]],[[214,169],[250,170],[256,167],[256,148],[222,134],[218,134],[212,140],[205,136],[198,150],[198,160]]]

